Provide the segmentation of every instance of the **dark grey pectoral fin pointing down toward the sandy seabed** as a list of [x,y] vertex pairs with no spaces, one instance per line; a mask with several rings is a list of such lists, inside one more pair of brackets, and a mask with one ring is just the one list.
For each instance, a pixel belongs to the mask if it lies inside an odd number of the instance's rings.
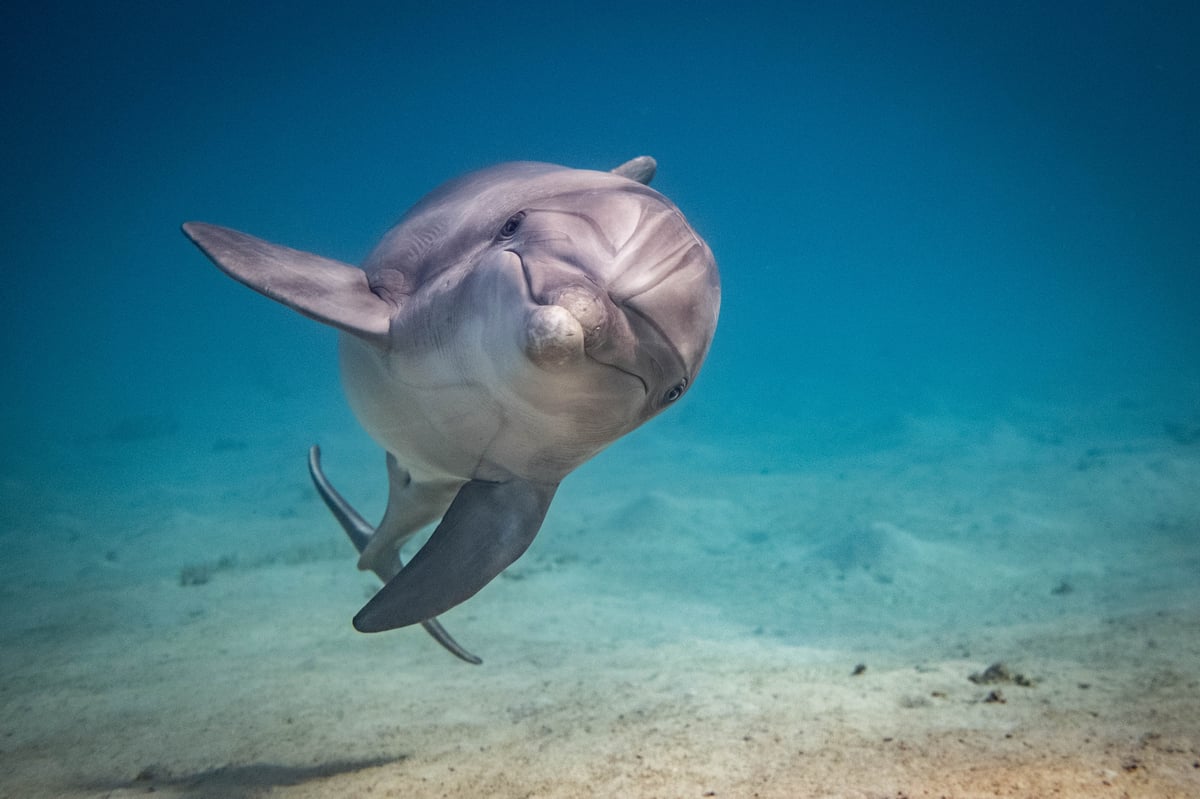
[[420,552],[354,617],[354,627],[403,627],[474,596],[529,547],[557,488],[515,479],[466,483]]

